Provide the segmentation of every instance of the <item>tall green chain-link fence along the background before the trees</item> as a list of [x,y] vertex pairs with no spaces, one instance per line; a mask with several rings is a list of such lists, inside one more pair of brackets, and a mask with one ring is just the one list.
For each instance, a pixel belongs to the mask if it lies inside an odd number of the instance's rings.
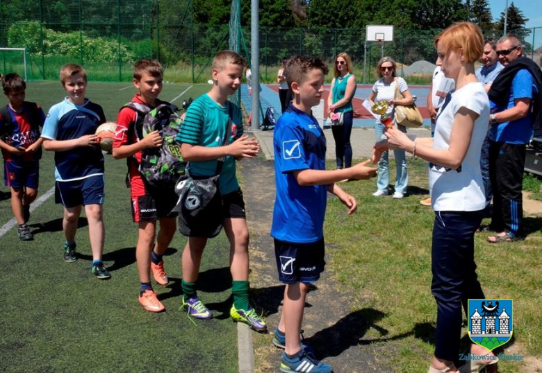
[[[192,0],[0,0],[0,71],[24,72],[28,80],[58,79],[67,62],[83,64],[91,80],[130,80],[133,62],[157,58],[166,79],[204,82],[216,51],[227,49],[230,27],[193,23]],[[434,62],[434,37],[440,30],[395,29],[394,41],[366,43],[365,29],[260,29],[261,76],[272,81],[281,58],[315,55],[333,61],[348,53],[356,75],[372,82],[381,55],[400,62]],[[515,32],[525,54],[541,63],[542,28]],[[240,44],[248,57],[249,27],[240,28]],[[498,35],[492,35],[498,36]],[[366,62],[367,71],[362,71]],[[405,71],[400,70],[404,75]]]

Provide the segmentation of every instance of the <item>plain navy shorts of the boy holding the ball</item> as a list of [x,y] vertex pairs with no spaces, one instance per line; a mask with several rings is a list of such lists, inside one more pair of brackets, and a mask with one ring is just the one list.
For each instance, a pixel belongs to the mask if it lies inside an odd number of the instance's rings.
[[64,207],[104,205],[104,175],[55,183],[55,202]]

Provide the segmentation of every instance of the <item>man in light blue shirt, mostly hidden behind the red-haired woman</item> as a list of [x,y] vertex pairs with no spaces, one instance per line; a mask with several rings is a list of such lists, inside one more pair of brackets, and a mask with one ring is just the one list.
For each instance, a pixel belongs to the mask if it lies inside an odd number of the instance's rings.
[[[493,80],[497,78],[504,65],[499,62],[497,54],[497,45],[495,40],[486,40],[484,42],[484,51],[480,62],[482,66],[476,71],[476,78],[484,85],[486,92],[489,92]],[[482,154],[480,155],[480,170],[482,171],[482,180],[484,181],[484,190],[486,192],[486,209],[488,209],[493,199],[493,190],[491,189],[491,180],[489,178],[489,140],[491,139],[491,130],[488,130],[484,144],[482,144]]]

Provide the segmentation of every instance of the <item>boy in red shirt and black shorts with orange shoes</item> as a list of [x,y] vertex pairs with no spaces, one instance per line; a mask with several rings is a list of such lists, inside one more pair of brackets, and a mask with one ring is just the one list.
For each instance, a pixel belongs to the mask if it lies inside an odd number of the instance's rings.
[[[158,95],[163,87],[163,68],[156,60],[139,60],[133,71],[133,85],[138,89],[133,103],[154,108],[163,101]],[[139,302],[149,312],[165,310],[151,286],[150,271],[158,284],[167,285],[169,280],[164,270],[163,254],[172,241],[176,229],[176,213],[171,210],[177,202],[174,188],[156,189],[150,186],[139,172],[141,151],[147,148],[160,148],[163,139],[158,131],[142,137],[142,114],[130,107],[123,107],[117,118],[117,130],[113,142],[113,157],[127,158],[129,186],[131,188],[131,206],[133,221],[138,223],[138,244],[136,260],[141,283]],[[160,230],[156,237],[156,221],[160,221]]]

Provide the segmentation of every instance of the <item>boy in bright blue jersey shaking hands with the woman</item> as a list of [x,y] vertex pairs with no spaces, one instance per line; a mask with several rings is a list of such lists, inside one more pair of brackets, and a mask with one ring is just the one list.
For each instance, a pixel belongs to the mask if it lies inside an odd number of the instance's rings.
[[329,373],[331,366],[318,361],[299,338],[306,292],[325,266],[323,227],[327,192],[337,196],[348,208],[348,214],[352,214],[357,208],[356,199],[336,182],[368,179],[375,176],[377,168],[367,167],[370,161],[366,161],[326,171],[326,139],[311,108],[320,103],[328,68],[318,58],[296,55],[286,63],[285,71],[294,99],[274,128],[277,197],[271,236],[279,279],[286,284],[286,290],[273,344],[284,348],[282,372]]

